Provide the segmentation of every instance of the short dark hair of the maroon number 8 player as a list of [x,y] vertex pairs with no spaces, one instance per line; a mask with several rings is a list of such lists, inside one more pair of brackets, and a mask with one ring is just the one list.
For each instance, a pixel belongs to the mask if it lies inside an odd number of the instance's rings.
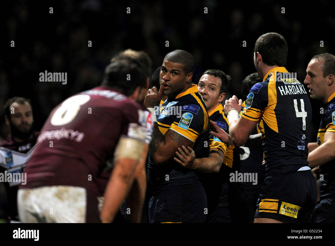
[[[128,77],[130,80],[127,80]],[[101,85],[109,86],[126,96],[130,96],[138,86],[146,88],[147,78],[147,71],[143,63],[123,58],[114,60],[106,67]]]

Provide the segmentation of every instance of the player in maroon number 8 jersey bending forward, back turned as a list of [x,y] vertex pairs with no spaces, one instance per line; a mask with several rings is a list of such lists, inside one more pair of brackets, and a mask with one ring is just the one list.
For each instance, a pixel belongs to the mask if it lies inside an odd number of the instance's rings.
[[[102,86],[66,99],[51,112],[27,163],[27,184],[18,191],[22,222],[112,222],[128,192],[130,215],[140,221],[152,129],[151,114],[137,103],[148,88],[145,71],[134,59],[113,61]],[[114,168],[99,215],[99,174],[111,159]]]

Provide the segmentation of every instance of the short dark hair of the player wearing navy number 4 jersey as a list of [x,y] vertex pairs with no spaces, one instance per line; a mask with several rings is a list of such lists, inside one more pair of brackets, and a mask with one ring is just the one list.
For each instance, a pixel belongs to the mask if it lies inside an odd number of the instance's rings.
[[262,55],[263,62],[268,66],[286,66],[287,43],[285,38],[275,32],[268,32],[261,35],[255,43],[255,54]]

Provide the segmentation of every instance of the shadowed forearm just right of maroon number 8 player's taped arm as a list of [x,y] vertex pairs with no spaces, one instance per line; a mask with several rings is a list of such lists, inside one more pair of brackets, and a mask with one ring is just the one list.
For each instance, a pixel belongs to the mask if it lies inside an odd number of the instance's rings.
[[145,171],[138,175],[126,198],[126,204],[130,209],[129,222],[140,223],[145,199],[145,190],[147,187]]

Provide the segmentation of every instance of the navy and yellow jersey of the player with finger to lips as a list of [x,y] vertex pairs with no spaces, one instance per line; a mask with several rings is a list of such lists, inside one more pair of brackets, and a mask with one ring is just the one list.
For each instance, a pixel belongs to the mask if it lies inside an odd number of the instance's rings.
[[[206,105],[198,92],[197,85],[176,96],[175,99],[166,99],[157,116],[160,132],[165,135],[172,130],[194,142],[193,150],[196,158],[208,157],[209,147],[206,144],[209,138],[209,118]],[[166,150],[171,151],[171,150]],[[166,180],[166,174],[169,180]],[[148,157],[148,181],[151,184],[191,184],[199,181],[196,171],[183,168],[172,160],[170,165],[156,166]]]

